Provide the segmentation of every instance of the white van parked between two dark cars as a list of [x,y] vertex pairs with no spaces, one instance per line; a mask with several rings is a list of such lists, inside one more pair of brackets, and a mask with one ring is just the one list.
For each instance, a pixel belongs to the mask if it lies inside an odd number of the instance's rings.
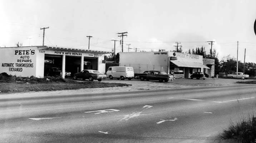
[[110,66],[106,74],[109,79],[117,78],[124,80],[127,78],[131,80],[134,77],[133,67],[131,66]]

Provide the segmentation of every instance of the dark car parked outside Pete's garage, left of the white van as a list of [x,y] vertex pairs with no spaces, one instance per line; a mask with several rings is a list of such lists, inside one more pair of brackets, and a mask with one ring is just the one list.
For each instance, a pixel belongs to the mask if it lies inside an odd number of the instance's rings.
[[74,74],[74,79],[89,79],[90,81],[106,79],[107,75],[100,73],[98,70],[82,70],[80,73]]

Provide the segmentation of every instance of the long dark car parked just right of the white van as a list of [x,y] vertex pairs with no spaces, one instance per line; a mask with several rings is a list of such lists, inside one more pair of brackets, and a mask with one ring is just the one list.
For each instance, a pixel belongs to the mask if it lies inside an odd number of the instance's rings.
[[174,75],[168,75],[164,71],[148,70],[141,74],[134,74],[135,79],[143,80],[158,80],[159,82],[168,82],[174,79]]

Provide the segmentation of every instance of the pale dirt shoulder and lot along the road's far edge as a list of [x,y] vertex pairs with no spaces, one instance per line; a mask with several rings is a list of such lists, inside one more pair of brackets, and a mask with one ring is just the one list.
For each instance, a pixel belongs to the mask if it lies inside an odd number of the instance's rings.
[[[117,80],[117,79],[104,79],[102,82],[106,83],[127,83],[132,84],[128,87],[110,87],[110,88],[86,88],[86,89],[77,89],[77,90],[58,90],[58,91],[42,91],[42,92],[26,92],[26,93],[10,93],[2,94],[0,98],[5,97],[30,97],[33,95],[40,96],[49,96],[49,95],[70,95],[70,94],[95,94],[95,93],[107,93],[107,92],[131,92],[138,90],[157,90],[157,89],[177,89],[177,88],[193,88],[193,87],[218,87],[218,86],[229,86],[229,85],[241,85],[236,83],[241,79],[216,79],[216,78],[207,78],[206,80],[200,79],[175,79],[170,80],[169,82],[159,83],[158,81],[141,81],[137,79],[132,80]],[[251,79],[255,80],[255,79]],[[86,80],[88,81],[88,80]],[[88,81],[89,82],[89,81]],[[98,82],[95,80],[95,82]]]

